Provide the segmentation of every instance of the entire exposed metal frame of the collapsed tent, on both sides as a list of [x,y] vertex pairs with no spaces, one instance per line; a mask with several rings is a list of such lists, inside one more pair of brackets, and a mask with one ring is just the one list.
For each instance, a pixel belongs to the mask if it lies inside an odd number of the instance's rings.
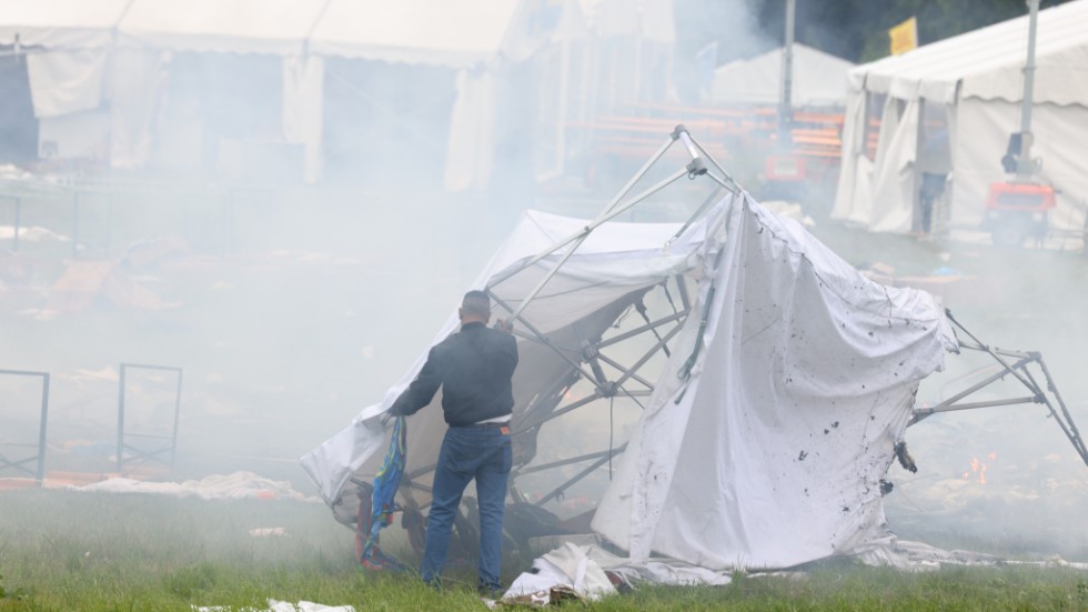
[[[682,169],[674,171],[665,179],[658,181],[657,183],[651,185],[644,191],[637,193],[629,199],[627,195],[631,193],[632,189],[642,180],[664,155],[665,153],[677,142],[681,143],[682,148],[687,152],[691,161]],[[541,393],[534,402],[527,407],[526,411],[523,413],[525,419],[523,422],[515,422],[512,427],[512,435],[516,437],[518,434],[531,433],[534,429],[557,419],[566,413],[574,410],[578,410],[594,403],[598,400],[612,400],[616,397],[625,395],[635,402],[638,402],[637,398],[648,397],[654,391],[654,385],[652,382],[647,381],[643,377],[638,375],[638,369],[644,365],[649,359],[652,359],[658,352],[663,352],[666,355],[668,353],[668,341],[672,340],[683,328],[687,317],[692,313],[692,301],[688,293],[688,289],[685,283],[683,274],[674,277],[672,282],[677,289],[677,293],[681,299],[681,307],[676,308],[673,302],[671,294],[668,293],[668,280],[661,283],[661,287],[668,298],[669,303],[673,304],[673,312],[669,314],[661,315],[655,320],[648,318],[644,310],[639,312],[645,319],[645,324],[623,332],[618,335],[612,338],[601,339],[597,342],[586,342],[580,348],[571,347],[560,347],[552,342],[545,333],[538,330],[532,321],[524,317],[525,308],[536,298],[541,297],[541,292],[547,285],[548,281],[558,272],[558,270],[566,263],[566,261],[575,253],[578,247],[588,238],[588,235],[598,227],[607,221],[615,219],[616,217],[623,214],[634,205],[639,202],[645,201],[653,194],[665,189],[669,184],[676,182],[683,177],[688,179],[696,179],[698,177],[707,177],[714,183],[716,183],[715,190],[708,195],[708,198],[698,207],[698,209],[686,220],[681,230],[673,235],[668,241],[675,240],[684,231],[695,223],[716,201],[719,200],[721,192],[723,190],[738,195],[742,192],[739,184],[729,175],[729,173],[716,161],[714,158],[706,152],[706,150],[699,144],[687,129],[681,124],[677,126],[674,131],[669,134],[668,139],[661,146],[656,153],[645,164],[635,173],[634,177],[608,201],[604,209],[597,214],[597,217],[587,223],[584,228],[574,232],[555,243],[551,247],[540,251],[535,255],[524,260],[523,262],[511,267],[506,271],[498,274],[491,284],[485,288],[485,291],[491,297],[492,301],[498,305],[501,309],[506,311],[508,314],[507,323],[520,323],[523,329],[514,329],[513,333],[518,338],[522,338],[530,342],[540,343],[547,347],[550,350],[554,351],[563,361],[570,367],[566,377],[560,377],[556,383],[545,393]],[[668,247],[666,243],[664,247]],[[511,304],[505,300],[501,299],[495,293],[495,288],[508,280],[510,278],[518,274],[520,272],[527,270],[543,262],[546,258],[552,255],[557,255],[554,262],[552,262],[551,268],[545,273],[545,275],[533,287],[533,289],[526,294],[525,298],[521,300],[517,305]],[[646,289],[643,295],[633,302],[633,307],[636,304],[642,304],[643,298],[648,294],[654,288]],[[1072,423],[1071,417],[1066,409],[1065,402],[1062,401],[1060,394],[1058,394],[1057,388],[1054,384],[1054,380],[1050,377],[1046,364],[1042,362],[1041,355],[1039,353],[1028,353],[1028,352],[1017,352],[1017,351],[1006,351],[1000,349],[991,349],[980,342],[977,338],[970,334],[963,325],[956,321],[950,312],[947,312],[948,319],[965,334],[970,338],[969,342],[960,342],[960,348],[968,350],[978,350],[986,352],[994,357],[998,363],[1001,364],[1003,370],[1000,373],[990,377],[990,379],[977,383],[969,388],[968,390],[958,393],[956,397],[946,400],[931,408],[916,408],[914,410],[914,415],[909,424],[915,424],[918,421],[930,417],[939,412],[949,412],[955,410],[967,410],[976,408],[987,408],[997,405],[1009,405],[1017,403],[1042,403],[1046,404],[1050,411],[1050,414],[1057,420],[1061,430],[1066,433],[1067,438],[1074,443],[1077,452],[1081,455],[1086,463],[1088,463],[1088,451],[1085,449],[1085,444],[1080,438],[1080,434]],[[622,318],[623,315],[621,315]],[[665,331],[664,334],[658,333],[658,330],[675,323],[672,328]],[[628,340],[631,338],[639,337],[645,333],[653,333],[656,337],[657,342],[641,358],[638,358],[632,365],[624,365],[618,361],[605,355],[601,352],[602,349],[613,347],[617,343]],[[695,355],[692,355],[693,358]],[[1016,359],[1015,363],[1009,363],[1008,359]],[[607,364],[610,368],[616,370],[619,373],[619,378],[616,380],[608,380],[604,374],[601,363]],[[1037,363],[1042,369],[1042,375],[1047,382],[1047,390],[1050,391],[1054,399],[1047,397],[1042,388],[1037,383],[1035,377],[1027,371],[1026,367],[1030,363]],[[967,395],[974,393],[975,391],[981,389],[986,384],[989,384],[996,380],[1001,379],[1006,374],[1014,375],[1017,380],[1025,384],[1030,391],[1031,395],[1024,398],[1015,398],[1009,400],[995,400],[988,402],[970,402],[960,403],[959,400],[966,398]],[[568,400],[563,403],[564,395],[570,388],[578,382],[580,380],[588,381],[593,384],[594,390],[590,395],[580,399]],[[637,382],[645,389],[628,389],[627,385],[631,381]],[[1057,405],[1057,408],[1056,408]],[[639,407],[642,407],[639,402]],[[541,415],[534,417],[534,413]],[[542,463],[537,465],[532,464],[532,459],[522,465],[515,465],[511,471],[510,478],[510,494],[511,498],[521,503],[532,503],[536,506],[542,506],[543,504],[555,500],[562,499],[564,492],[578,481],[585,479],[600,466],[610,462],[614,457],[621,454],[626,450],[626,443],[623,443],[616,448],[608,448],[605,450],[597,450],[592,452],[586,452],[581,455],[571,457],[566,459],[561,459],[557,461],[552,461],[547,463]],[[557,468],[565,468],[573,464],[585,463],[586,466],[574,474],[573,476],[563,481],[560,485],[555,486],[548,493],[542,495],[535,501],[530,501],[517,486],[517,478],[522,475],[527,475],[532,473],[542,472],[545,470],[554,470]],[[415,482],[415,479],[420,475],[433,472],[435,469],[434,464],[425,465],[423,468],[413,470],[412,472],[405,473],[404,479],[401,482],[401,486],[430,492],[431,488]]]

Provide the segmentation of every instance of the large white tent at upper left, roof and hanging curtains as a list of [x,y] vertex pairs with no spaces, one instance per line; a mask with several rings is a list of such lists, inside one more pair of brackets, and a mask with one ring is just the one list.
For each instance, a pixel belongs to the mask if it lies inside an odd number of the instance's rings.
[[490,151],[466,143],[491,138],[492,80],[504,44],[525,42],[523,32],[512,33],[524,7],[518,0],[0,1],[0,44],[29,48],[42,140],[67,143],[52,154],[88,157],[109,142],[109,161],[124,168],[148,161],[169,53],[282,58],[282,140],[303,146],[308,180],[322,163],[326,58],[445,67],[459,92],[447,182],[463,188],[488,172]]

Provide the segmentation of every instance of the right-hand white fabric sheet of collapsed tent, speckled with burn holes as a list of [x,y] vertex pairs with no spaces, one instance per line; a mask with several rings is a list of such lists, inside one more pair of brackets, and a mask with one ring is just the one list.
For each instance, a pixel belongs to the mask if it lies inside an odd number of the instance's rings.
[[593,529],[709,569],[852,554],[886,535],[880,479],[955,337],[930,294],[866,279],[796,222],[747,198],[721,214]]

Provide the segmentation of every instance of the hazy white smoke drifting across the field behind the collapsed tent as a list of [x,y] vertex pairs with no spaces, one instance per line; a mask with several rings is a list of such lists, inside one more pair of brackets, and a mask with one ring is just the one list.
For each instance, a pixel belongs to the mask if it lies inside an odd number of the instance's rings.
[[[253,54],[170,58],[141,170],[99,172],[92,162],[95,171],[84,173],[87,160],[47,159],[32,180],[6,173],[0,229],[14,225],[18,199],[24,232],[18,251],[0,233],[0,368],[51,374],[47,469],[113,471],[122,394],[125,431],[147,437],[127,440],[160,448],[173,433],[177,378],[131,369],[122,388],[120,368],[162,365],[182,371],[177,476],[245,469],[308,486],[298,457],[382,399],[522,211],[593,217],[672,124],[697,119],[651,106],[698,103],[701,50],[717,43],[724,63],[780,41],[748,2],[676,0],[674,8],[674,46],[616,37],[573,43],[564,60],[562,43],[544,37],[550,42],[511,59],[495,74],[487,181],[465,191],[445,190],[449,160],[471,154],[451,151],[457,72],[344,58],[325,64],[316,184],[302,182],[303,152],[282,138],[281,63]],[[804,17],[798,41],[836,52]],[[0,78],[9,72],[26,77],[6,69]],[[622,140],[606,121],[616,114],[644,121],[652,134]],[[743,151],[722,161],[741,167],[742,182],[755,173]],[[675,193],[631,217],[675,220],[688,210],[676,201],[693,197]],[[913,277],[957,270],[937,287],[945,304],[984,341],[1041,351],[1075,420],[1088,423],[1082,258],[937,249],[824,220],[815,233],[858,267],[885,262]],[[983,367],[959,359],[949,355],[946,377],[970,380]],[[919,401],[949,389],[927,381]],[[0,375],[0,443],[34,444],[38,379]],[[601,417],[587,435],[625,439],[629,408],[615,421]],[[984,409],[911,428],[921,470],[893,468],[893,529],[1070,550],[1061,529],[1079,520],[1066,501],[1082,500],[1085,468],[1040,410]],[[562,431],[545,431],[550,439],[575,442]],[[986,484],[971,460],[987,462]],[[585,489],[605,478],[598,472]]]

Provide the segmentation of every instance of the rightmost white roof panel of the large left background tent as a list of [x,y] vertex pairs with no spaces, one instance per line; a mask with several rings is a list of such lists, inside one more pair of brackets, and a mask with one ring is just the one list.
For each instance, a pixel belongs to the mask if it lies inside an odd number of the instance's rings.
[[502,48],[517,0],[332,0],[310,38],[320,56],[465,67]]

